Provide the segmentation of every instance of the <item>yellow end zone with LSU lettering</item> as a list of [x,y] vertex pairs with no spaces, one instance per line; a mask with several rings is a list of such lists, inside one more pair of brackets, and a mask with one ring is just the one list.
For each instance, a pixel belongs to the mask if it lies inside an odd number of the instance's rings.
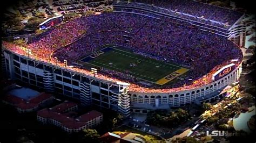
[[171,73],[170,75],[167,75],[164,78],[161,78],[156,83],[159,85],[164,85],[165,83],[173,80],[174,78],[186,73],[188,70],[189,69],[186,69],[186,68],[180,68],[180,69],[174,71],[173,73]]

